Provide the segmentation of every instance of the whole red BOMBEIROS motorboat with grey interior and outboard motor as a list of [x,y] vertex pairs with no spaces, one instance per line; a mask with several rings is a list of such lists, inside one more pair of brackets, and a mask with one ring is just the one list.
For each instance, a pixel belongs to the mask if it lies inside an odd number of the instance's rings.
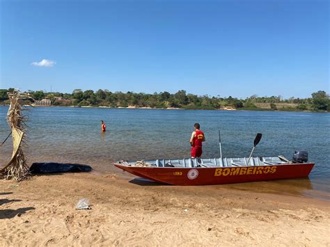
[[[297,154],[297,155],[296,155]],[[293,161],[285,157],[156,159],[119,161],[120,169],[155,182],[173,185],[233,184],[308,177],[314,166],[306,152],[296,152]]]

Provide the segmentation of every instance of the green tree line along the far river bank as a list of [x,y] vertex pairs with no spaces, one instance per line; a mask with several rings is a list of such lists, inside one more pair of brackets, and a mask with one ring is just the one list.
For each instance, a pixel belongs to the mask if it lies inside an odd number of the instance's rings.
[[[7,93],[14,88],[0,89],[0,103],[8,103]],[[134,93],[111,92],[109,90],[81,90],[75,89],[72,93],[52,92],[42,90],[28,90],[35,100],[49,99],[54,106],[110,106],[110,107],[151,107],[151,108],[182,108],[182,109],[221,109],[233,107],[235,109],[273,109],[285,111],[330,111],[329,95],[325,91],[317,91],[311,97],[301,99],[290,97],[283,99],[281,96],[258,97],[252,95],[246,99],[237,97],[221,97],[218,95],[194,95],[185,90],[177,93]],[[279,107],[286,104],[283,107]]]

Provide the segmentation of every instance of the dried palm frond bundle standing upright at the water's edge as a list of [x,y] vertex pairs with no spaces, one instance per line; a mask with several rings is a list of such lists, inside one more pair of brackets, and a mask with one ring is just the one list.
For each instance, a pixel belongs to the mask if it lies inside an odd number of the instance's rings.
[[7,179],[21,181],[29,175],[29,166],[26,164],[26,158],[22,149],[23,145],[26,144],[26,117],[22,113],[22,106],[24,106],[24,99],[31,97],[19,93],[18,90],[8,93],[8,97],[10,106],[7,113],[7,122],[12,131],[13,155],[8,165],[2,168],[0,173]]

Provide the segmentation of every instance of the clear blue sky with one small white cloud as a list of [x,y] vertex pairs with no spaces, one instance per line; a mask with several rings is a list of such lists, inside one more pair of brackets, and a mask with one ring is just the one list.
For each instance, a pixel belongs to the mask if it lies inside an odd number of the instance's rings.
[[0,4],[0,88],[329,93],[326,0]]

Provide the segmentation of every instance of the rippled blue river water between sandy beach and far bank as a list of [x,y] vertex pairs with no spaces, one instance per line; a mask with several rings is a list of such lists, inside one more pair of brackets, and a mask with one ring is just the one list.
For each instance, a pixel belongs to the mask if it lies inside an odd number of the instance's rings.
[[[10,132],[8,106],[0,106],[0,141]],[[247,157],[256,133],[262,140],[253,156],[283,155],[306,150],[315,167],[309,178],[230,184],[242,190],[289,193],[329,200],[330,114],[274,111],[206,111],[164,109],[104,109],[36,107],[24,112],[29,121],[25,148],[28,163],[56,161],[88,164],[97,173],[118,173],[120,159],[189,158],[189,138],[195,122],[206,142],[203,157]],[[101,134],[100,120],[107,124]],[[0,166],[12,152],[11,141],[0,148]],[[219,185],[221,186],[221,185]]]

